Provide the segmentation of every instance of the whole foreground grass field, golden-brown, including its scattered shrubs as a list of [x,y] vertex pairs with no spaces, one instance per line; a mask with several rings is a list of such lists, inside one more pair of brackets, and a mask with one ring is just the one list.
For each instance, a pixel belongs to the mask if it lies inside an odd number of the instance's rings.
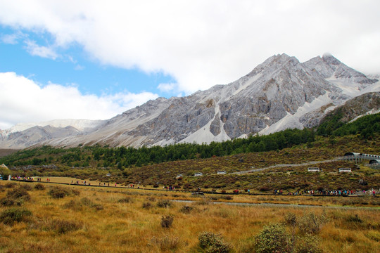
[[[0,189],[0,252],[264,252],[255,238],[273,223],[284,224],[281,252],[380,249],[379,198],[371,196],[193,197],[6,181],[0,182]],[[318,207],[215,205],[214,201]],[[205,231],[210,233],[201,235]],[[281,238],[275,235],[267,240]]]

